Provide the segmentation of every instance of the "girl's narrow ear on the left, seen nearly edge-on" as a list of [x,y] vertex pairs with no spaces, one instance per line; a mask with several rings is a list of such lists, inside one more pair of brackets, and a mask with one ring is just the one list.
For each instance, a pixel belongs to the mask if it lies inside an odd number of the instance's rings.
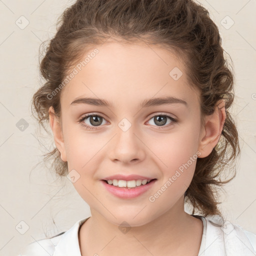
[[60,152],[60,158],[65,162],[67,160],[62,128],[58,118],[55,116],[55,112],[52,106],[49,107],[49,123],[53,133],[55,145]]

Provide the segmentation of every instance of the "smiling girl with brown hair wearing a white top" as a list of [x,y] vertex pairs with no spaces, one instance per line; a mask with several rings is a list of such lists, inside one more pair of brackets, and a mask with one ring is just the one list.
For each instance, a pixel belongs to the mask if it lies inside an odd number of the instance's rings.
[[33,107],[39,124],[49,121],[53,166],[91,216],[22,255],[255,255],[256,235],[217,207],[216,187],[234,176],[220,175],[240,148],[233,75],[205,8],[77,0],[40,70]]

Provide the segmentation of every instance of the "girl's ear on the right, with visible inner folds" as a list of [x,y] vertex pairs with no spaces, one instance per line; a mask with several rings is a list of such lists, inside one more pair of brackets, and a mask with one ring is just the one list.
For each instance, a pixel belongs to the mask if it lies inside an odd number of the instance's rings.
[[220,138],[225,119],[225,101],[220,99],[216,103],[214,112],[205,116],[204,127],[202,127],[198,145],[198,151],[201,152],[198,156],[199,158],[206,157],[211,153]]

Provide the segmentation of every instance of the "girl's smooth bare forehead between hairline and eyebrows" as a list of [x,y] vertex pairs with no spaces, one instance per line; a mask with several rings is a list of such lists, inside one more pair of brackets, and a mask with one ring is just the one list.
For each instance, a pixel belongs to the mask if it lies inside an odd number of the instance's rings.
[[66,107],[80,96],[104,98],[114,107],[164,95],[192,103],[197,96],[181,59],[155,45],[105,42],[87,50],[74,68],[77,73],[61,91]]

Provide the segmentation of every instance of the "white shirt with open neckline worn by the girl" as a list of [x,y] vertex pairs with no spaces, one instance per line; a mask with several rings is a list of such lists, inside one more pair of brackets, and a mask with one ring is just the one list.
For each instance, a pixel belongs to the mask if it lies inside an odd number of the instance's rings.
[[[224,222],[217,215],[193,216],[201,219],[203,223],[198,256],[256,255],[256,234],[244,230],[237,224]],[[52,238],[29,243],[25,251],[18,256],[81,256],[78,230],[86,219],[88,218],[78,220],[70,229]]]

